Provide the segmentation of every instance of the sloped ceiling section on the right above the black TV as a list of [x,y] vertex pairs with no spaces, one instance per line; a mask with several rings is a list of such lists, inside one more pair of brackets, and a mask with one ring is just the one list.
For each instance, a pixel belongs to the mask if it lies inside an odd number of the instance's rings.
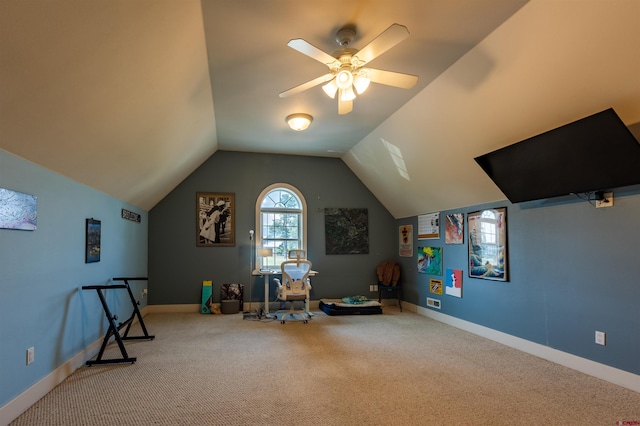
[[396,218],[503,200],[474,157],[610,107],[637,129],[638,18],[531,1],[343,159]]

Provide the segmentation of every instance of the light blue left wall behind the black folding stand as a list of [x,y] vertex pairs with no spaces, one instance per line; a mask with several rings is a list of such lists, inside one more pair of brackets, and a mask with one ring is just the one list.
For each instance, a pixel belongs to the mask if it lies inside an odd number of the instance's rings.
[[[0,187],[38,197],[38,229],[0,229],[0,407],[99,340],[106,319],[95,290],[117,276],[147,274],[147,213],[0,151]],[[126,208],[142,223],[121,219]],[[85,219],[102,222],[102,253],[85,264]],[[136,282],[140,294],[144,282]],[[116,294],[117,293],[117,294]],[[121,320],[125,291],[107,294]],[[144,301],[143,301],[144,306]],[[26,365],[26,350],[35,362]]]

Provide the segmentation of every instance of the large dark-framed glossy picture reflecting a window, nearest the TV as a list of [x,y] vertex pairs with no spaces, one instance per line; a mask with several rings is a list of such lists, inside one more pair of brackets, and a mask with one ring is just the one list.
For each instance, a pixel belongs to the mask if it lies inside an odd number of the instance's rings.
[[507,271],[507,208],[467,215],[469,277],[509,281]]

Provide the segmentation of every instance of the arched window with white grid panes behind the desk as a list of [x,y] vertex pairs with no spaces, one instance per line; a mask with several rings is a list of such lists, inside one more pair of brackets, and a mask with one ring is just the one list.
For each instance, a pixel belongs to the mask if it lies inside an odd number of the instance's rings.
[[307,203],[297,188],[276,183],[265,188],[256,201],[256,253],[273,249],[256,259],[256,267],[280,270],[289,250],[307,250]]

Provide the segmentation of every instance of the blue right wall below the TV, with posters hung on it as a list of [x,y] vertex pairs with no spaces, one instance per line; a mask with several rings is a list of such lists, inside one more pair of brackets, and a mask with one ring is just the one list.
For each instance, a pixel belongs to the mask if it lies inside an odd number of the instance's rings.
[[[467,214],[507,207],[509,282],[468,276]],[[464,245],[445,244],[445,216],[465,214]],[[640,374],[640,186],[614,191],[614,206],[598,208],[575,198],[510,204],[507,201],[440,212],[439,240],[414,247],[443,247],[444,265],[463,270],[462,298],[429,293],[417,273],[416,256],[400,258],[404,298],[426,307],[441,300],[441,312],[541,345]],[[399,219],[396,225],[417,218]],[[429,308],[433,309],[433,308]],[[595,344],[595,331],[606,346]]]

